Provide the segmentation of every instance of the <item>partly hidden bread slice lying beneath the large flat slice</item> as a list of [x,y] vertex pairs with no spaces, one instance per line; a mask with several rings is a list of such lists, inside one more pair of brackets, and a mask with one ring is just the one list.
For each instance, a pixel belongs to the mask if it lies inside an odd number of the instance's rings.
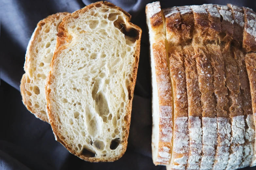
[[44,84],[50,71],[58,26],[67,14],[57,13],[39,21],[26,51],[25,74],[20,85],[22,101],[31,113],[46,122]]

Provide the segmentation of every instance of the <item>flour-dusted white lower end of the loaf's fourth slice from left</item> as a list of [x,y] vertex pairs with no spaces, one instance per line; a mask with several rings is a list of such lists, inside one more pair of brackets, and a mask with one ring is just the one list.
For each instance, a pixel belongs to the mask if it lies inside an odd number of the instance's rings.
[[217,145],[217,118],[202,118],[203,147],[200,169],[212,169]]

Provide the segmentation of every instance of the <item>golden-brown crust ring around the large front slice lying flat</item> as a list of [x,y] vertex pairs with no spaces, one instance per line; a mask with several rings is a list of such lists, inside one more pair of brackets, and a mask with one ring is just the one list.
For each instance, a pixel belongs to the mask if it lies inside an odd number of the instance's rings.
[[[135,29],[137,31],[137,41],[136,41],[136,46],[135,46],[135,58],[137,58],[137,62],[135,63],[134,65],[134,69],[133,69],[133,74],[131,75],[131,78],[133,78],[133,81],[131,82],[131,84],[129,85],[130,86],[130,97],[129,97],[129,102],[127,104],[127,108],[126,108],[126,112],[127,112],[127,115],[126,115],[126,135],[125,135],[125,138],[123,139],[124,140],[124,143],[122,145],[122,152],[120,155],[118,155],[117,157],[115,158],[110,158],[110,159],[103,159],[103,158],[87,158],[85,157],[84,155],[81,155],[80,153],[77,153],[75,150],[71,149],[71,147],[69,147],[68,143],[64,140],[64,139],[61,139],[60,136],[60,132],[58,131],[58,127],[56,125],[56,118],[54,116],[54,112],[53,112],[53,108],[52,108],[52,104],[51,104],[51,99],[50,99],[50,92],[51,92],[51,89],[49,88],[49,85],[53,82],[53,79],[54,79],[54,75],[52,75],[52,71],[53,71],[53,65],[54,63],[56,62],[56,59],[58,57],[58,53],[60,53],[60,51],[62,49],[65,49],[65,44],[68,44],[69,43],[69,37],[68,37],[68,33],[67,33],[67,30],[65,29],[65,26],[66,26],[66,22],[72,18],[76,18],[77,14],[80,14],[80,13],[84,13],[88,10],[90,10],[91,8],[93,7],[101,7],[101,6],[107,6],[109,8],[115,8],[119,11],[121,11],[125,17],[125,19],[127,20],[127,23],[128,25],[125,27],[126,31],[129,32],[129,30],[131,29]],[[60,142],[70,153],[78,156],[79,158],[85,160],[85,161],[88,161],[88,162],[113,162],[113,161],[116,161],[118,160],[119,158],[121,158],[123,156],[123,154],[125,153],[126,151],[126,148],[127,148],[127,140],[128,140],[128,134],[129,134],[129,127],[130,127],[130,116],[131,116],[131,109],[132,109],[132,99],[133,99],[133,92],[134,92],[134,86],[135,86],[135,82],[136,82],[136,77],[137,77],[137,70],[138,70],[138,62],[139,62],[139,55],[140,55],[140,40],[141,40],[141,33],[142,33],[142,30],[140,27],[138,27],[137,25],[134,25],[130,22],[130,19],[131,19],[131,16],[126,12],[124,11],[122,8],[120,7],[117,7],[115,6],[114,4],[112,3],[109,3],[107,1],[100,1],[100,2],[96,2],[96,3],[92,3],[82,9],[79,9],[75,12],[73,12],[72,14],[69,14],[67,15],[65,18],[63,18],[62,22],[60,23],[59,25],[59,31],[58,31],[58,34],[57,34],[57,43],[56,43],[56,49],[55,49],[55,52],[54,52],[54,55],[53,55],[53,58],[52,58],[52,61],[51,61],[51,71],[49,72],[49,75],[47,77],[47,80],[46,80],[46,84],[45,84],[45,96],[46,96],[46,101],[47,101],[47,111],[48,111],[48,116],[49,116],[49,122],[51,124],[51,127],[52,127],[52,130],[53,130],[53,133],[56,137],[56,140],[58,142]]]

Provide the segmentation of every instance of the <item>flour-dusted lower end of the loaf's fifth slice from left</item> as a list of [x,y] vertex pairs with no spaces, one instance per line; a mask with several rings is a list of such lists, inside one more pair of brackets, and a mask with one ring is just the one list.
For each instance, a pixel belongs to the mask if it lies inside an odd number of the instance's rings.
[[231,137],[231,125],[229,120],[230,118],[217,118],[218,145],[216,149],[215,162],[213,164],[214,170],[224,170],[229,162]]

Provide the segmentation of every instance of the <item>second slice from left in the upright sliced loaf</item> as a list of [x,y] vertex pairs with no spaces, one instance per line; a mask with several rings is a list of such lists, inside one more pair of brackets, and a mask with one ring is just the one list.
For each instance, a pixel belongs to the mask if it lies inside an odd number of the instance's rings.
[[180,38],[181,17],[177,7],[163,9],[163,14],[174,102],[172,159],[167,169],[185,169],[189,157],[189,131],[186,74]]

